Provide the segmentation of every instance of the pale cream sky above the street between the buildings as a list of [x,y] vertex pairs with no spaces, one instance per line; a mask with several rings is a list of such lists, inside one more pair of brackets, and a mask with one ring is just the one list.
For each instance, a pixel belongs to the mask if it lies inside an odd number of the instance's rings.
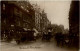
[[51,24],[62,24],[64,28],[69,29],[70,0],[30,0],[30,2],[37,3],[41,9],[45,10]]

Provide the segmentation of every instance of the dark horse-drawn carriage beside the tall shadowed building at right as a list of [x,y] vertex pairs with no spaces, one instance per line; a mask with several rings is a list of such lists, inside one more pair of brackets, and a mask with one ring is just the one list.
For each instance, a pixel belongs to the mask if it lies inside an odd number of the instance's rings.
[[68,34],[56,33],[55,40],[56,40],[57,46],[59,45],[68,46],[69,45],[69,35]]

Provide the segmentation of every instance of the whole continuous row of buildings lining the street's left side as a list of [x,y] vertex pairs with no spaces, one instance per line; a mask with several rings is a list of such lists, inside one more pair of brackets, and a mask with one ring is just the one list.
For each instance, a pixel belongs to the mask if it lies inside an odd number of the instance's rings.
[[31,5],[29,1],[1,1],[1,34],[7,35],[16,29],[33,28],[43,32],[49,24],[44,10],[37,5]]

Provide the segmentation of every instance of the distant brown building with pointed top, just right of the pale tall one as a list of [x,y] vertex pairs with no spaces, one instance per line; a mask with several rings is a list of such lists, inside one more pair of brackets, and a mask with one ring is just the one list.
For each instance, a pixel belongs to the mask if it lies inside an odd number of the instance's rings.
[[42,19],[41,19],[42,31],[47,31],[47,28],[51,26],[51,22],[47,18],[47,14],[42,11]]

